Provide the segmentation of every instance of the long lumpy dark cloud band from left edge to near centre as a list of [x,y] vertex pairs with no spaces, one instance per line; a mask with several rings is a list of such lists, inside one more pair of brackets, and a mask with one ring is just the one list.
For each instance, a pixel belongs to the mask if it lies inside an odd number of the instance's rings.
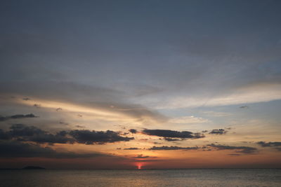
[[0,139],[16,139],[18,141],[33,141],[43,144],[105,144],[116,141],[130,141],[133,137],[122,137],[118,132],[111,130],[90,131],[90,130],[62,130],[56,134],[48,133],[34,126],[15,124],[10,131],[0,131]]

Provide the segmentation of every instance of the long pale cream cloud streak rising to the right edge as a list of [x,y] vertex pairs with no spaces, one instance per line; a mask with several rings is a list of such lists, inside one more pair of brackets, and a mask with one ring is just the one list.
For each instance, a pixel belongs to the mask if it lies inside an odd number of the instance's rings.
[[[214,95],[179,95],[171,98],[164,98],[166,102],[156,103],[156,109],[182,109],[199,106],[227,106],[234,104],[250,104],[256,102],[270,102],[281,99],[281,83],[259,82],[241,85],[240,87],[228,88],[227,92]],[[150,101],[153,102],[153,101]],[[155,102],[154,102],[155,103]],[[148,103],[149,105],[149,103]]]

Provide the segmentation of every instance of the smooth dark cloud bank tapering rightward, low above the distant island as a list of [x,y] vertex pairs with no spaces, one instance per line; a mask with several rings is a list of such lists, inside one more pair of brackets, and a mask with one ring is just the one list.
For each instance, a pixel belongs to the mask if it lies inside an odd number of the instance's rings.
[[[18,141],[0,141],[1,158],[92,158],[105,156],[102,153],[58,152],[49,147],[26,144]],[[107,155],[110,156],[110,155]]]

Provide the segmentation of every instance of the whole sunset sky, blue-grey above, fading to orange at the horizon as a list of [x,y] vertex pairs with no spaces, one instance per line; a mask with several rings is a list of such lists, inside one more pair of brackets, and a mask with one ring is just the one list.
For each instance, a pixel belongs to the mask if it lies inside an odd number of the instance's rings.
[[280,8],[1,1],[0,168],[280,168]]

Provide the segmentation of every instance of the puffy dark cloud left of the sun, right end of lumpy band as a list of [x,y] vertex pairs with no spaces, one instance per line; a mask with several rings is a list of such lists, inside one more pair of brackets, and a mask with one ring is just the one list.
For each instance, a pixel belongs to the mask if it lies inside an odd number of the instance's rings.
[[118,132],[107,131],[90,131],[90,130],[71,130],[69,134],[79,144],[105,144],[116,141],[130,141],[133,137],[121,137]]

